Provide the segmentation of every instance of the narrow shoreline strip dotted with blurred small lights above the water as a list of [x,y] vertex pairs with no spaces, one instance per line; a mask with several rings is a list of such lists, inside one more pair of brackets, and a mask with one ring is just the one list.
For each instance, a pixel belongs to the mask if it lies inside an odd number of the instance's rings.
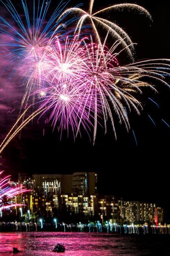
[[118,235],[147,235],[160,234],[169,235],[170,228],[160,226],[138,226],[138,225],[115,225],[109,226],[90,226],[84,224],[66,225],[57,224],[57,227],[49,223],[42,226],[36,223],[0,223],[0,232],[56,232],[56,233],[94,233],[94,234],[118,234]]

